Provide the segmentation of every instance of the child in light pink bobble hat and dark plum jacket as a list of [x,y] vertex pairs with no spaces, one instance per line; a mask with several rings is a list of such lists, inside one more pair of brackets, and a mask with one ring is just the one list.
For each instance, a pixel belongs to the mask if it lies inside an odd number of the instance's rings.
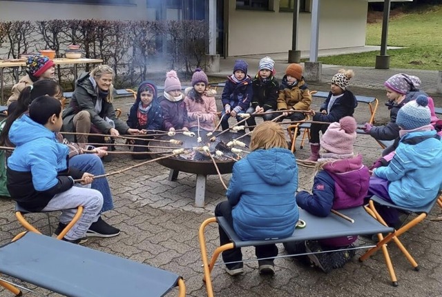
[[163,113],[163,129],[165,131],[188,131],[189,119],[186,104],[184,96],[181,94],[181,82],[175,70],[166,73],[164,94],[159,101]]

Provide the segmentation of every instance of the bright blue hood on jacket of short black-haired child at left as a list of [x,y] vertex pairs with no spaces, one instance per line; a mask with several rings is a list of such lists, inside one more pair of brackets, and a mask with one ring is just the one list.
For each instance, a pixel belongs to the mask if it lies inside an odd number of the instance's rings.
[[41,138],[55,139],[55,133],[48,130],[44,125],[35,123],[26,114],[15,120],[9,131],[9,139],[16,146]]

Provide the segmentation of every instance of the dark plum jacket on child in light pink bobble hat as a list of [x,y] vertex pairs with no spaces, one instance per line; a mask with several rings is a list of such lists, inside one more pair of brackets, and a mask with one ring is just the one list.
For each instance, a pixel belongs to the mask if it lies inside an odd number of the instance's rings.
[[186,103],[180,101],[170,101],[164,95],[159,98],[163,113],[163,130],[169,131],[171,127],[180,130],[184,127],[189,129],[189,118],[187,116]]

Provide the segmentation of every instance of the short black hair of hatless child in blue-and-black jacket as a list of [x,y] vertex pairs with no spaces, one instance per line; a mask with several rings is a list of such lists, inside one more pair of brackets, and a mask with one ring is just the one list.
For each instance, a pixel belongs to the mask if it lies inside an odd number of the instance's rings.
[[29,105],[29,117],[32,121],[44,125],[55,114],[57,118],[61,112],[61,102],[51,96],[39,96]]

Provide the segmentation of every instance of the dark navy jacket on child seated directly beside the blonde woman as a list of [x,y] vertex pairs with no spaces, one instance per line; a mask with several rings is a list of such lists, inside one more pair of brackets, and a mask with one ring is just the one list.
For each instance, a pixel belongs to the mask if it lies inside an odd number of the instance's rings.
[[[143,81],[140,85],[144,85],[146,83],[153,85],[153,88],[155,88],[155,94],[158,94],[157,88],[152,81]],[[137,99],[135,99],[135,102],[133,103],[131,110],[129,111],[128,119],[126,121],[127,125],[133,129],[138,130],[161,130],[163,126],[163,114],[162,108],[160,106],[160,103],[158,103],[156,96],[153,96],[153,100],[150,104],[151,109],[147,112],[147,123],[144,126],[140,125],[140,120],[138,119],[138,107],[140,105],[140,102],[141,94],[140,90],[138,90]]]

